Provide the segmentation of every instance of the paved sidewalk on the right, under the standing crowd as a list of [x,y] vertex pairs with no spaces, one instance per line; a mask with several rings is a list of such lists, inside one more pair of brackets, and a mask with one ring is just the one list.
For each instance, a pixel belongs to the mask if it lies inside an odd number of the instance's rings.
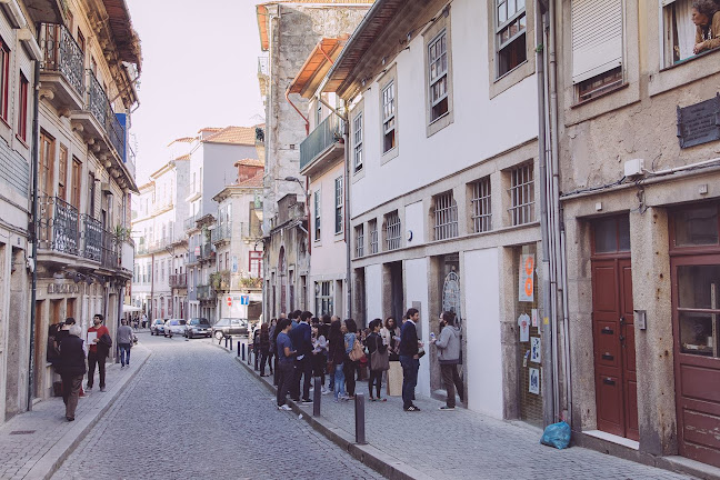
[[[247,362],[241,363],[252,371]],[[272,377],[258,376],[258,380],[272,389]],[[367,399],[367,382],[358,382],[357,392]],[[393,479],[693,478],[581,447],[546,447],[539,441],[540,429],[463,408],[440,411],[438,408],[444,403],[433,399],[420,397],[416,404],[420,412],[403,411],[398,397],[387,402],[367,402],[368,446],[354,443],[353,401],[337,403],[332,394],[322,396],[322,416],[318,419],[312,418],[312,404],[292,407],[356,458]]]

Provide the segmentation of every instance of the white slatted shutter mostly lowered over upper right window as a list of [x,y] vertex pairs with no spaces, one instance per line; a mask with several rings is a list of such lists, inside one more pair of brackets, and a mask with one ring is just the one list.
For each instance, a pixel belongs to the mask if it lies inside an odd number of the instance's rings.
[[572,0],[572,82],[622,64],[622,0]]

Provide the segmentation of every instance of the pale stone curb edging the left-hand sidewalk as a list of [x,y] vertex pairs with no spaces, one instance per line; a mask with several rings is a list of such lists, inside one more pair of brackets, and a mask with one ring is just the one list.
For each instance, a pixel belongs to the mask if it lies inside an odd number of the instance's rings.
[[116,400],[124,391],[138,372],[144,367],[148,359],[152,357],[152,351],[148,350],[148,356],[142,362],[124,379],[122,383],[118,383],[116,391],[112,396],[106,397],[93,410],[90,410],[88,416],[80,420],[78,424],[71,428],[66,434],[60,437],[54,446],[42,456],[42,458],[30,469],[26,478],[28,479],[50,479],[54,472],[58,471],[62,462],[78,448],[78,444],[84,439],[90,430],[98,423],[104,413],[112,407]]

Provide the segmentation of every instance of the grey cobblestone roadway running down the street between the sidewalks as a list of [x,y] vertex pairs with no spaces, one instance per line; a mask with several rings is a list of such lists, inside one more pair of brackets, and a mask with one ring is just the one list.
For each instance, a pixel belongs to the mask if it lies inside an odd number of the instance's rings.
[[53,479],[381,479],[274,399],[210,340],[153,352]]

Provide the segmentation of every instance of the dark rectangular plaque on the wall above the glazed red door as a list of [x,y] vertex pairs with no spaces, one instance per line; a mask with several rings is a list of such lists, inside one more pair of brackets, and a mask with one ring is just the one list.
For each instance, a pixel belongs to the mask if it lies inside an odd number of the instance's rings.
[[678,107],[680,148],[720,140],[720,93],[688,107]]

